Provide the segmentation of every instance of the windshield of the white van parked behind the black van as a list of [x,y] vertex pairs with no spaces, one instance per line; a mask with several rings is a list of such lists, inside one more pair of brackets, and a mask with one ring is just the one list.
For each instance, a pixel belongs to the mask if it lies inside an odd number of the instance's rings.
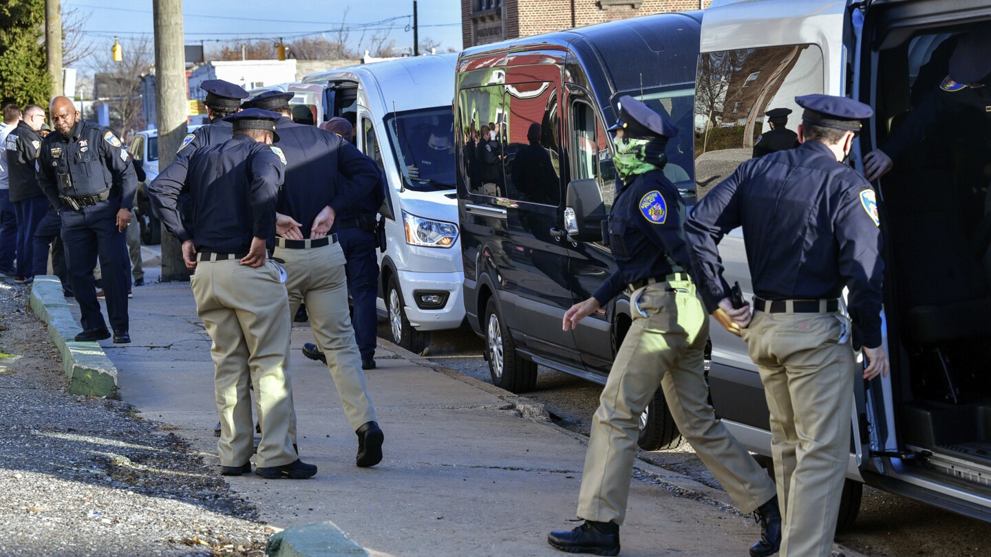
[[454,189],[454,115],[450,106],[397,112],[385,129],[406,187],[419,191]]

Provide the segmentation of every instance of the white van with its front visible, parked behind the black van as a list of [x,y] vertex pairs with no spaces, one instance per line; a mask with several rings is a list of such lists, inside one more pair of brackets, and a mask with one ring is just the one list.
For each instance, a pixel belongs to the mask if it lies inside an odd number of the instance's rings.
[[[379,312],[393,342],[416,353],[427,349],[431,331],[465,321],[451,109],[456,61],[457,55],[399,58],[311,73],[284,86],[295,93],[294,119],[306,116],[304,107],[317,125],[348,119],[355,145],[385,172]],[[411,172],[429,149],[431,131],[450,142],[450,161]]]

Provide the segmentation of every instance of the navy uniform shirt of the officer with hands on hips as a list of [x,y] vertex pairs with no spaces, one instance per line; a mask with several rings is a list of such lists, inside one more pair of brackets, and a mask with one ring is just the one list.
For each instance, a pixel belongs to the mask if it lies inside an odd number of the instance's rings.
[[[178,159],[149,185],[165,228],[197,252],[240,254],[275,237],[275,200],[285,175],[276,146],[237,136]],[[192,199],[192,230],[179,219],[179,193]]]

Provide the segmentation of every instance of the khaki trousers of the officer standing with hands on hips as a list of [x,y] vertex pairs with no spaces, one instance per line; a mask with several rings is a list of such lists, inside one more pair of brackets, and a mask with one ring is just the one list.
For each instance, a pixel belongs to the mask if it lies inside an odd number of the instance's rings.
[[285,288],[275,267],[243,266],[237,259],[201,261],[190,278],[196,313],[213,339],[214,390],[220,414],[217,452],[221,466],[243,466],[252,456],[249,382],[255,386],[262,425],[259,467],[283,466],[292,450],[292,380],[289,374],[291,322]]

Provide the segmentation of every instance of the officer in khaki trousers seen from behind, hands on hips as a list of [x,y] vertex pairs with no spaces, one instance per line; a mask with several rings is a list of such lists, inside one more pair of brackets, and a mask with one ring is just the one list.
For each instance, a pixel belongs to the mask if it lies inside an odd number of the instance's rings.
[[[248,385],[255,387],[262,441],[258,468],[264,478],[302,479],[316,467],[292,447],[288,297],[275,263],[266,261],[275,235],[275,199],[285,157],[272,144],[277,114],[246,110],[228,116],[233,138],[177,159],[149,185],[153,206],[182,242],[196,312],[213,340],[215,390],[222,432],[221,474],[251,472],[253,424]],[[179,218],[178,196],[188,191],[193,222]],[[195,236],[193,236],[195,234]],[[250,292],[245,295],[245,292]]]

